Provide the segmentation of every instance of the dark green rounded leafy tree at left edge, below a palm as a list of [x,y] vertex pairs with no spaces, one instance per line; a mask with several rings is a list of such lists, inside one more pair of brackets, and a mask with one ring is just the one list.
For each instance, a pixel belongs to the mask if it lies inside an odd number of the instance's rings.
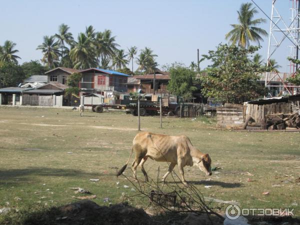
[[0,88],[17,86],[23,81],[25,74],[20,65],[14,62],[3,62],[0,65]]

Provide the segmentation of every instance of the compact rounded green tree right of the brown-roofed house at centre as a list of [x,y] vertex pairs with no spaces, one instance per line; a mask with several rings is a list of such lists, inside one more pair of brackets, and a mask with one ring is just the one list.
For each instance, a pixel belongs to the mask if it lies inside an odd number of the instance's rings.
[[177,96],[191,97],[195,87],[196,72],[190,68],[176,65],[169,68],[170,81],[167,89]]

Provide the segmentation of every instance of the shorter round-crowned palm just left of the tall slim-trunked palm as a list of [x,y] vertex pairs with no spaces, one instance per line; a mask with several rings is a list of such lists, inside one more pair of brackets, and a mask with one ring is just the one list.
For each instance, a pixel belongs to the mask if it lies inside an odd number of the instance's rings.
[[43,53],[41,61],[50,69],[55,67],[59,58],[58,42],[54,36],[43,36],[42,44],[38,45],[36,50],[40,49]]

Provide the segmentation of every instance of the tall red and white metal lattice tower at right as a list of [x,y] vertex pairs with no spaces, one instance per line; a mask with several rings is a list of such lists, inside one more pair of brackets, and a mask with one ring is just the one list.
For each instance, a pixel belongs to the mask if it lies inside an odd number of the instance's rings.
[[[288,0],[289,1],[289,20],[286,23],[279,13],[276,3],[279,0],[272,0],[272,11],[271,11],[271,21],[269,29],[269,41],[268,41],[268,50],[267,50],[267,63],[269,59],[272,58],[272,55],[275,51],[282,45],[282,42],[287,39],[288,42],[288,57],[298,59],[300,57],[300,31],[299,31],[299,9],[300,9],[300,0]],[[289,72],[293,76],[298,68],[297,64],[289,62]],[[280,85],[271,85],[270,82],[274,78],[279,78]],[[265,86],[270,88],[272,86],[280,87],[279,95],[283,91],[287,91],[289,94],[295,94],[300,92],[300,86],[294,86],[289,83],[286,83],[282,77],[277,72],[266,72],[265,75]]]

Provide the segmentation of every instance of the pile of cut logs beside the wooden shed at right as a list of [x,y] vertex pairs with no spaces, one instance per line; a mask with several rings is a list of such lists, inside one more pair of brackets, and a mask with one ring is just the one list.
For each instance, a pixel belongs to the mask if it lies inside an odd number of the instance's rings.
[[300,129],[300,115],[298,112],[285,114],[268,114],[260,121],[255,121],[248,117],[244,122],[242,129]]

